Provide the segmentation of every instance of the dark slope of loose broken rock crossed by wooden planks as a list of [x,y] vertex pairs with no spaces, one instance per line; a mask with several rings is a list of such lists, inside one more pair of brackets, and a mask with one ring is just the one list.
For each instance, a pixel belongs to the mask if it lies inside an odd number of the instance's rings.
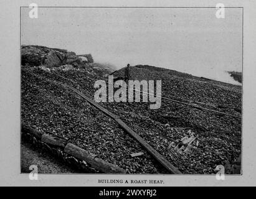
[[[26,50],[23,55],[28,57]],[[104,65],[80,61],[60,65],[22,63],[22,123],[64,137],[128,173],[167,173],[115,121],[63,86],[74,86],[93,99],[95,81],[113,72]],[[123,78],[124,70],[113,75]],[[162,80],[162,96],[241,116],[241,86],[144,65],[131,67],[131,78]],[[184,174],[213,174],[217,165],[232,163],[240,155],[241,118],[163,100],[161,108],[155,110],[149,109],[150,103],[100,104],[120,116]],[[195,139],[190,152],[177,147],[187,146],[184,137]],[[131,157],[135,152],[144,155]]]

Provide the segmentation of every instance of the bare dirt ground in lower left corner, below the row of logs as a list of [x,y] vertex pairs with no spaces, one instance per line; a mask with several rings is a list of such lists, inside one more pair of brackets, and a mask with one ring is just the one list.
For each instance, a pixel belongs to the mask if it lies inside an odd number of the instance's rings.
[[72,174],[80,173],[72,169],[63,162],[56,160],[55,157],[40,152],[31,144],[21,144],[21,173],[30,173],[29,167],[37,165],[39,174]]

